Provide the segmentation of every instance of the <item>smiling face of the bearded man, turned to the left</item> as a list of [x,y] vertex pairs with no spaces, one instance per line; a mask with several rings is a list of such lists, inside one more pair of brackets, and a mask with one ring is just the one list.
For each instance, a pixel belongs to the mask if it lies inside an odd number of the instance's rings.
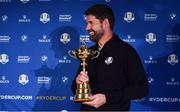
[[93,15],[87,15],[86,22],[86,30],[90,35],[90,40],[93,42],[98,42],[104,35],[102,22]]

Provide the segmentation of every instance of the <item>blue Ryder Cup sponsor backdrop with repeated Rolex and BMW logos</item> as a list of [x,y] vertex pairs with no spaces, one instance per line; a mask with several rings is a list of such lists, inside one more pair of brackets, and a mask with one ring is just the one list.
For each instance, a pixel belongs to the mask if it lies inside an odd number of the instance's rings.
[[0,111],[79,110],[71,83],[80,62],[68,51],[94,44],[84,11],[96,3],[112,7],[114,32],[148,76],[150,93],[131,110],[180,110],[178,0],[0,0]]

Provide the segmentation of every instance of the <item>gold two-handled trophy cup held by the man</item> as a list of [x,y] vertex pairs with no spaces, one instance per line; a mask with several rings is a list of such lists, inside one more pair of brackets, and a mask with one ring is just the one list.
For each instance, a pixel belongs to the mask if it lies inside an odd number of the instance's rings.
[[[70,50],[69,55],[75,59],[79,59],[81,61],[82,70],[86,71],[86,60],[94,59],[99,56],[99,51],[95,51],[92,49],[88,49],[85,42],[82,42],[82,45],[79,49]],[[88,82],[77,84],[76,94],[74,97],[74,101],[83,102],[83,101],[91,101],[88,97],[91,95],[91,89]]]

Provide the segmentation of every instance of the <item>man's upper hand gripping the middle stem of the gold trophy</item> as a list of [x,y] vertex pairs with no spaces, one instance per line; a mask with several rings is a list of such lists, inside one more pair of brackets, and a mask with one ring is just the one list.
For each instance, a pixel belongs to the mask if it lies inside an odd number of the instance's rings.
[[82,84],[89,82],[89,77],[87,75],[87,72],[81,71],[80,74],[76,77],[76,84]]

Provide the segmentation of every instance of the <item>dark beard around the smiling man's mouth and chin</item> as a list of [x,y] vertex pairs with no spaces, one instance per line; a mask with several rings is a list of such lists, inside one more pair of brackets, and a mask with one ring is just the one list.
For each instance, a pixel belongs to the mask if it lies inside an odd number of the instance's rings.
[[90,35],[90,40],[93,42],[98,42],[102,36],[104,35],[104,32],[102,30],[100,30],[99,32],[96,32],[94,30],[88,30],[88,32],[93,32],[93,34],[89,34]]

